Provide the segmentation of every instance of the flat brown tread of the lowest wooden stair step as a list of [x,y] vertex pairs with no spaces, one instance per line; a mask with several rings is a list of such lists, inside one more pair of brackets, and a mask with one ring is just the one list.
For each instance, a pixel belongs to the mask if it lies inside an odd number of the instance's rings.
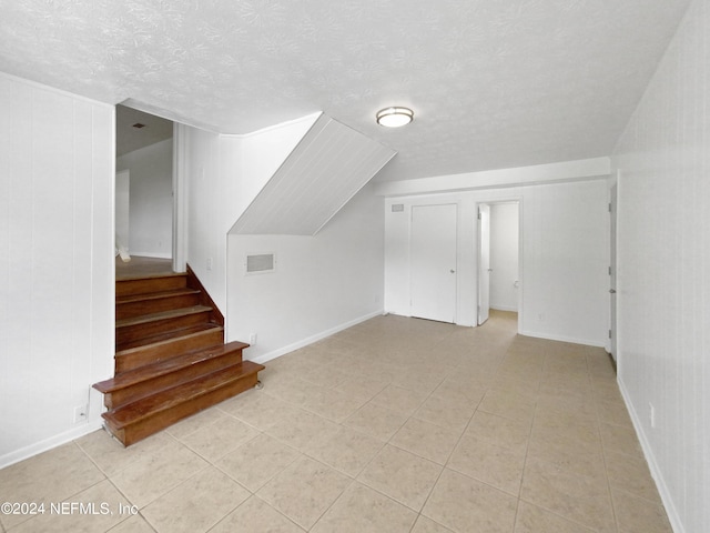
[[185,383],[165,389],[135,402],[122,405],[102,414],[115,429],[123,429],[143,419],[168,411],[176,405],[186,403],[199,396],[209,394],[231,382],[239,381],[246,375],[253,375],[264,370],[263,364],[242,361],[223,370],[212,372]]

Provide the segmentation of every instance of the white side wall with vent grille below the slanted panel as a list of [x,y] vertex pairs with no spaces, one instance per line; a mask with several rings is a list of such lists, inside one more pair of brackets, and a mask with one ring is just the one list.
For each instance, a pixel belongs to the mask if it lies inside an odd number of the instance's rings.
[[[267,361],[382,314],[383,199],[366,185],[315,237],[230,235],[230,340]],[[273,273],[244,273],[247,254],[273,252]]]

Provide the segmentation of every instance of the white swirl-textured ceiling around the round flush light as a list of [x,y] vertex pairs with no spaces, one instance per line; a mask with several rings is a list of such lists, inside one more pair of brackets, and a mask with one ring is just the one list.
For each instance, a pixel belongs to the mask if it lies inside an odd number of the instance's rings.
[[608,155],[688,3],[0,0],[0,70],[229,133],[323,111],[422,178]]

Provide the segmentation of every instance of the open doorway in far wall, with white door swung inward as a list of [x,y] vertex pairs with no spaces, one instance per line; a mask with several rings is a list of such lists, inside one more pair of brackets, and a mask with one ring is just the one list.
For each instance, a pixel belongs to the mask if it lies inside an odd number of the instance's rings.
[[520,315],[520,202],[478,204],[478,325],[490,310]]

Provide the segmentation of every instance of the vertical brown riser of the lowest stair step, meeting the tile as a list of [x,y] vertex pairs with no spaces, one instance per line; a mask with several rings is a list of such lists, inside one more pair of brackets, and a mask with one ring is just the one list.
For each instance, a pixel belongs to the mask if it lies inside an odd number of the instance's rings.
[[112,428],[112,424],[106,420],[106,426],[111,433],[115,435],[123,445],[129,446],[146,436],[158,433],[164,430],[169,425],[180,422],[187,416],[191,416],[200,411],[203,411],[212,405],[215,405],[229,398],[235,396],[248,389],[256,385],[256,373],[244,375],[239,380],[226,383],[224,386],[210,391],[199,398],[189,400],[180,405],[176,405],[166,411],[155,413],[153,416],[142,419],[134,424],[126,425],[122,430]]

